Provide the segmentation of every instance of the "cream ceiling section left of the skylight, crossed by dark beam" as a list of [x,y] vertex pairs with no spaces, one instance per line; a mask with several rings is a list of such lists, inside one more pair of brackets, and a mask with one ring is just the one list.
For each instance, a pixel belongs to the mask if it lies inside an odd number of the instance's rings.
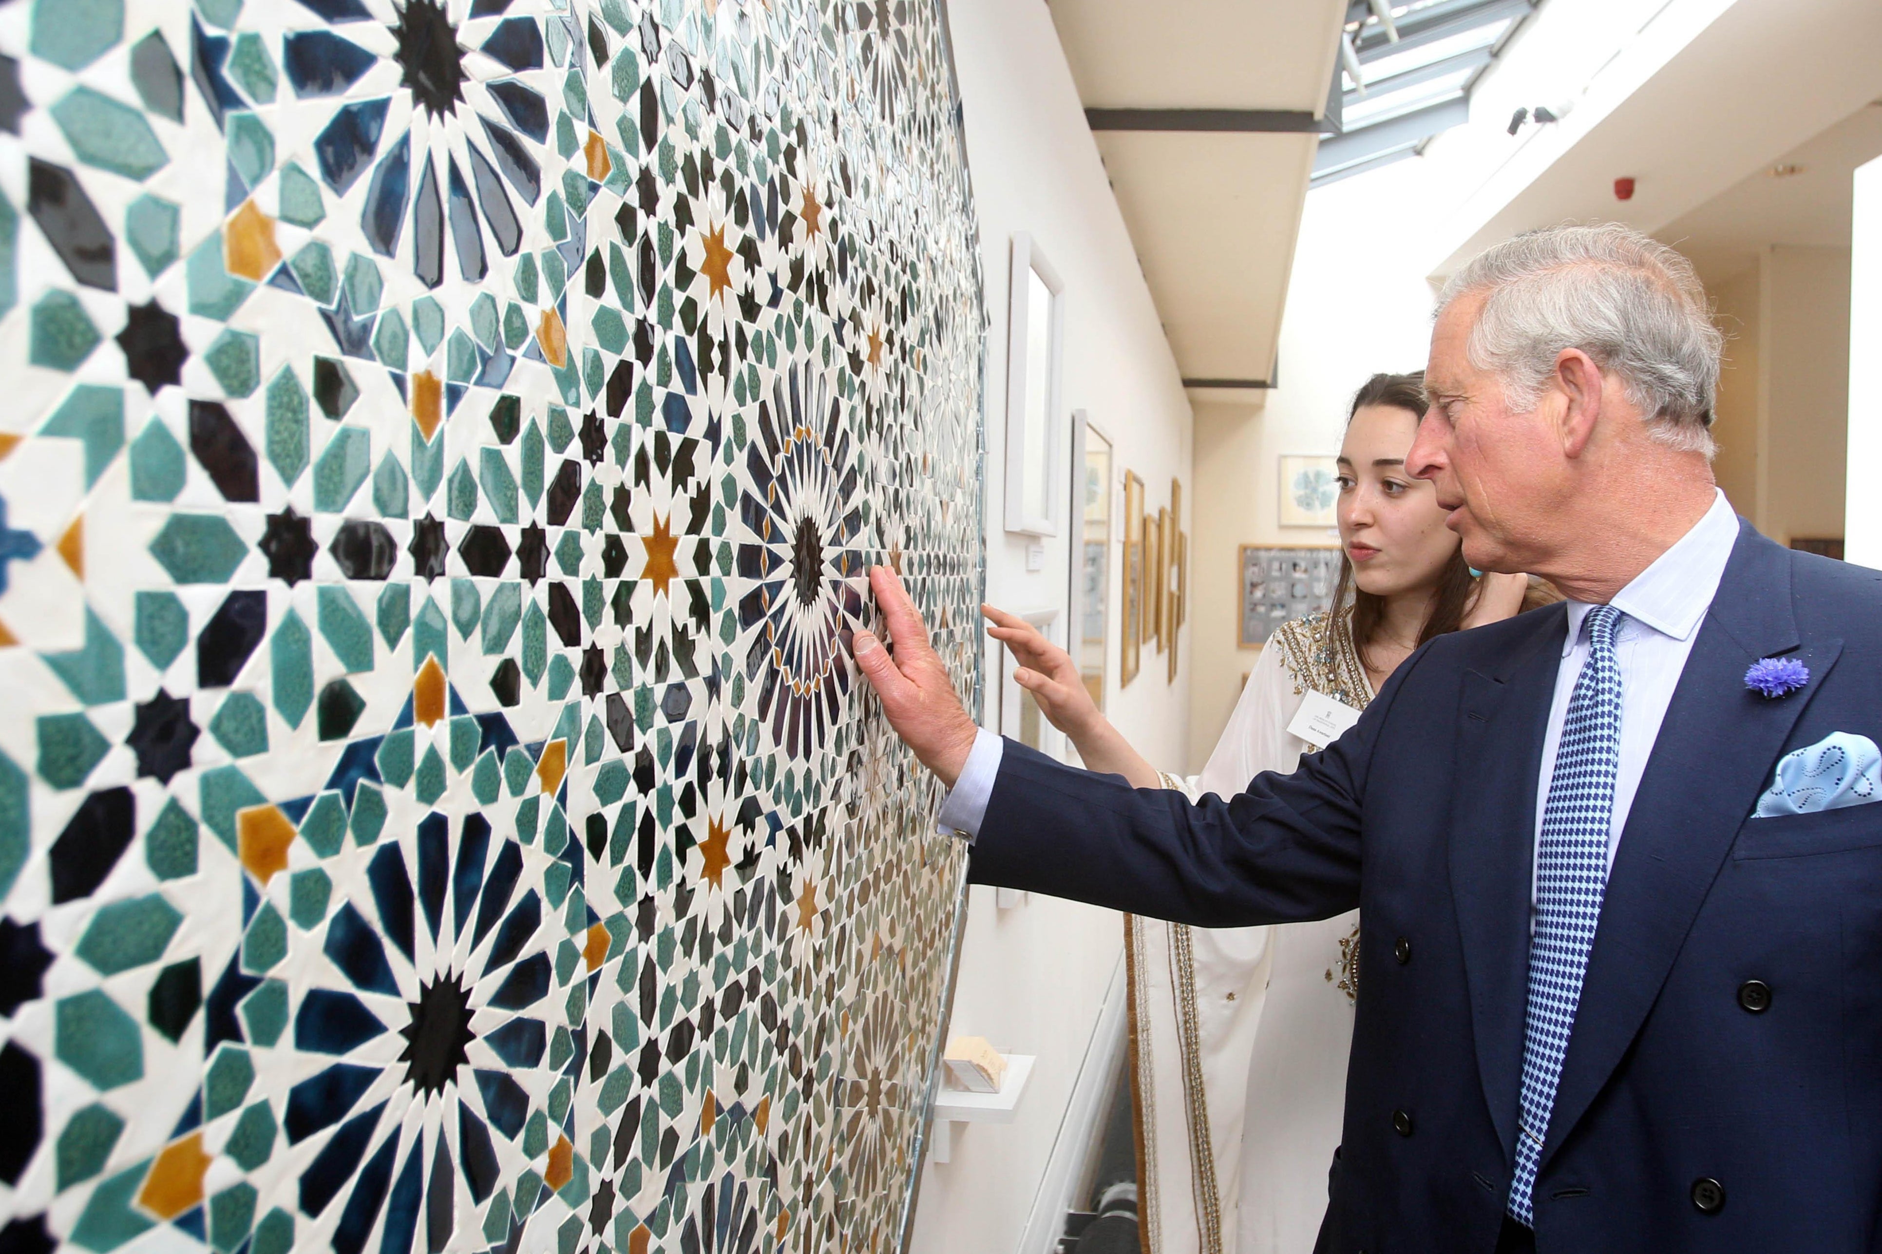
[[[1088,109],[1319,117],[1346,19],[1346,0],[1050,0],[1050,8]],[[1317,137],[1195,130],[1095,137],[1184,378],[1270,380]]]

